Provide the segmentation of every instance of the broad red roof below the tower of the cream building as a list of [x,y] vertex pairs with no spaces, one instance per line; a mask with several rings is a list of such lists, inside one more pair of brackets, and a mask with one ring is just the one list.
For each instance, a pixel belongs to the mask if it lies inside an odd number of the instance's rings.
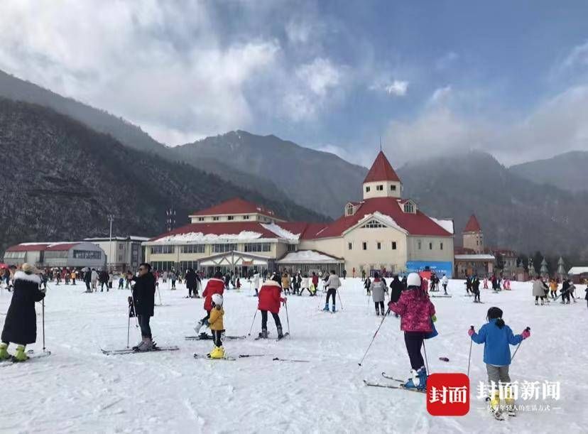
[[410,235],[428,235],[433,237],[452,237],[452,234],[440,227],[427,215],[417,210],[415,214],[404,212],[394,197],[374,197],[361,202],[354,215],[340,217],[316,234],[314,238],[340,237],[350,227],[353,227],[366,215],[380,212],[394,219],[398,226]]

